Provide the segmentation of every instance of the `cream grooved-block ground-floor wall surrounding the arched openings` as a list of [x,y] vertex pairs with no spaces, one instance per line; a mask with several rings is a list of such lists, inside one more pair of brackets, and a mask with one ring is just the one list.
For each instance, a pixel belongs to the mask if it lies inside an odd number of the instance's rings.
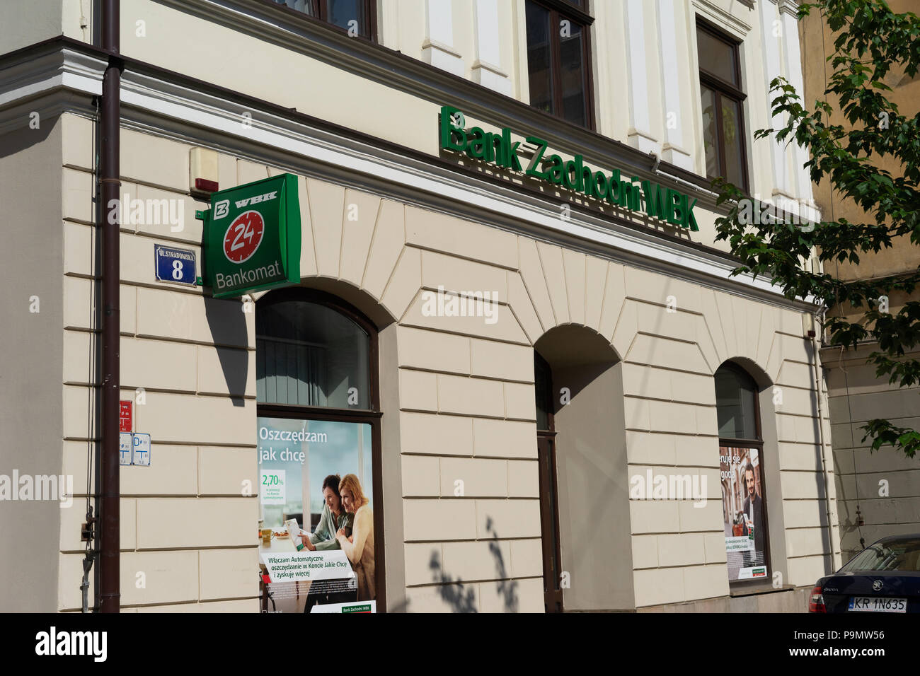
[[[72,116],[63,130],[63,463],[79,475],[92,437],[86,401],[93,379],[81,356],[93,326],[92,136],[89,120]],[[192,145],[123,130],[123,189],[181,200],[187,213],[200,208],[187,187]],[[283,168],[219,158],[222,187]],[[351,204],[357,222],[345,218]],[[785,523],[771,529],[786,552],[774,567],[799,586],[829,569],[833,488],[824,494],[811,347],[798,312],[315,178],[301,178],[301,205],[305,285],[357,290],[365,306],[397,320],[381,364],[382,388],[397,387],[385,401],[398,401],[398,410],[384,410],[401,467],[385,484],[385,500],[401,498],[402,513],[383,517],[388,529],[402,521],[386,541],[393,602],[405,590],[410,611],[453,608],[435,583],[443,579],[432,576],[434,555],[447,579],[464,581],[478,610],[505,609],[511,583],[518,610],[542,610],[532,346],[563,325],[599,334],[622,358],[621,478],[651,466],[709,479],[704,509],[688,500],[632,500],[628,521],[615,524],[628,529],[633,570],[610,574],[633,576],[635,606],[728,592],[711,376],[729,359],[749,360],[783,392],[773,412],[777,443],[765,448],[765,463],[779,477],[770,520],[776,514]],[[121,384],[125,397],[144,388],[135,428],[154,441],[152,467],[121,469],[122,603],[138,610],[258,609],[249,537],[258,498],[240,494],[241,482],[256,474],[253,315],[238,300],[154,281],[155,242],[197,249],[200,238],[200,223],[190,218],[179,233],[122,226]],[[439,286],[498,292],[498,321],[424,315],[422,292]],[[674,302],[676,312],[668,312]],[[234,368],[225,371],[228,362]],[[456,479],[465,483],[463,497],[454,495]],[[78,604],[75,521],[68,515],[62,525],[62,610]],[[834,541],[835,521],[832,507]],[[578,551],[570,537],[563,532],[563,545]],[[145,589],[135,585],[138,572],[146,573]],[[576,604],[577,592],[570,594]]]

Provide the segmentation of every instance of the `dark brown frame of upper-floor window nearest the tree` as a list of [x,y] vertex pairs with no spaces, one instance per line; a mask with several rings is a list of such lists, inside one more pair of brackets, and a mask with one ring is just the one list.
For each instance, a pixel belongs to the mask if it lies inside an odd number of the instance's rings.
[[[706,127],[701,125],[703,132],[703,166],[706,170],[706,177],[710,180],[719,178],[719,176],[726,178],[726,167],[728,165],[728,160],[725,155],[725,122],[722,118],[722,97],[727,97],[730,101],[734,101],[738,104],[739,117],[738,117],[738,139],[741,144],[742,157],[742,185],[738,188],[742,189],[745,193],[750,192],[751,179],[748,171],[748,143],[747,135],[744,125],[744,101],[747,99],[747,94],[740,88],[742,84],[742,62],[741,62],[741,46],[743,40],[738,40],[737,38],[724,33],[721,30],[717,29],[712,24],[708,23],[705,19],[701,17],[696,17],[696,31],[703,31],[714,40],[719,40],[723,44],[730,47],[732,52],[732,65],[734,66],[735,79],[738,81],[739,85],[735,85],[726,80],[723,80],[719,75],[709,73],[703,69],[702,64],[699,59],[699,40],[697,40],[696,46],[696,70],[699,72],[699,83],[700,86],[705,86],[712,92],[713,95],[713,112],[716,117],[716,133],[717,133],[717,142],[719,143],[719,174],[716,176],[710,176],[706,168]],[[702,100],[703,93],[700,91],[700,120],[702,120]]]

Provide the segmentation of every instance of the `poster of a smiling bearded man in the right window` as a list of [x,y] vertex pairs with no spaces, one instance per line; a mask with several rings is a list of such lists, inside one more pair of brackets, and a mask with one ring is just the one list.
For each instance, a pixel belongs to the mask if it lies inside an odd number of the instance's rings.
[[757,449],[720,446],[719,477],[729,580],[769,579]]

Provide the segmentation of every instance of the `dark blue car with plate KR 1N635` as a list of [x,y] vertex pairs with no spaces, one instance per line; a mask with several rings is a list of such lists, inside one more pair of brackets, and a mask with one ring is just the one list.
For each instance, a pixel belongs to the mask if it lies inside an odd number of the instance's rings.
[[920,613],[920,533],[870,544],[811,590],[810,613]]

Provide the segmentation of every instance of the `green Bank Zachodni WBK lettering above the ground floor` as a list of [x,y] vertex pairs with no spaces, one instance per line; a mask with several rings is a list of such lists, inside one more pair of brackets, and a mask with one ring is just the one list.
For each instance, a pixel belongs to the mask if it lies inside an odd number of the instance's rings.
[[526,168],[518,157],[521,142],[512,143],[511,129],[506,127],[500,133],[485,132],[479,127],[467,130],[466,117],[459,109],[451,106],[441,109],[441,147],[444,150],[463,153],[511,171],[523,171],[526,176],[580,192],[585,197],[632,212],[644,211],[652,218],[694,232],[699,230],[693,212],[696,200],[690,201],[684,193],[662,188],[649,180],[639,181],[638,177],[624,180],[619,169],[609,174],[595,171],[584,164],[581,155],[569,160],[559,155],[546,155],[548,143],[536,136],[525,137],[525,142],[536,147]]

